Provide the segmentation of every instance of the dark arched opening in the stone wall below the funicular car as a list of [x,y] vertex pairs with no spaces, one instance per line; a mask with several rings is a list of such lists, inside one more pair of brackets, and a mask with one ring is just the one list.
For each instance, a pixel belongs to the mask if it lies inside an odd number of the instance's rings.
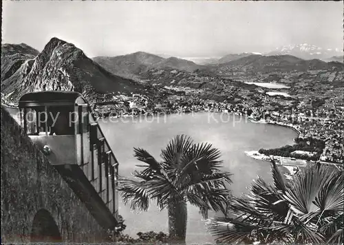
[[40,209],[32,222],[31,242],[62,242],[60,231],[49,211]]

